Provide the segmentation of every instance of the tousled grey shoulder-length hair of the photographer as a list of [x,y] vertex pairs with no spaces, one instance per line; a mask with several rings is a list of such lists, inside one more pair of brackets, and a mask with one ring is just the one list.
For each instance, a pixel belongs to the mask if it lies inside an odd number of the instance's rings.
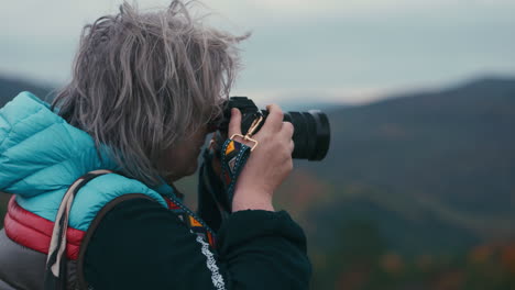
[[86,25],[73,78],[52,104],[147,185],[166,175],[166,150],[220,115],[240,64],[235,44],[249,36],[206,26],[189,5],[140,12],[124,2]]

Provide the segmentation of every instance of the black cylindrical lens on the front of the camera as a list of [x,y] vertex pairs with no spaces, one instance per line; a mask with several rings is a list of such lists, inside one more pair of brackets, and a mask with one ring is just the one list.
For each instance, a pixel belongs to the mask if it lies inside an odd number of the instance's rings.
[[318,110],[286,112],[284,121],[291,122],[295,127],[293,158],[321,160],[326,157],[331,133],[325,113]]

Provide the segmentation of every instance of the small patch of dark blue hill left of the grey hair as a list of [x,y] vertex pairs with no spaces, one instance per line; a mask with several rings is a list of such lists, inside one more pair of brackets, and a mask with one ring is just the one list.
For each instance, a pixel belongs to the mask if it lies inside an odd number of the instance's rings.
[[7,78],[0,75],[0,108],[22,91],[30,91],[41,99],[52,92],[51,86],[35,85],[31,81]]

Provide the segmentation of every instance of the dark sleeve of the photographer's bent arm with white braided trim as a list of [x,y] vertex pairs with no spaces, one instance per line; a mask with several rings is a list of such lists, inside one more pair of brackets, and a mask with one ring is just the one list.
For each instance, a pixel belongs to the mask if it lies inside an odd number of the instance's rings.
[[311,267],[302,228],[286,212],[231,214],[218,252],[158,203],[133,199],[102,219],[84,261],[99,289],[308,289]]

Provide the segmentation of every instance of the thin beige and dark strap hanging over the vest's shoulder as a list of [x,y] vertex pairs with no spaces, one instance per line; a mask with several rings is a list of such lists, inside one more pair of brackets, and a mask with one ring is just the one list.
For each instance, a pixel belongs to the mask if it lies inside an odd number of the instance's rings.
[[57,215],[54,222],[48,256],[45,266],[45,290],[64,290],[66,289],[66,232],[68,230],[68,216],[74,203],[74,198],[83,186],[91,179],[111,174],[109,170],[90,171],[78,178],[66,191],[61,202]]

